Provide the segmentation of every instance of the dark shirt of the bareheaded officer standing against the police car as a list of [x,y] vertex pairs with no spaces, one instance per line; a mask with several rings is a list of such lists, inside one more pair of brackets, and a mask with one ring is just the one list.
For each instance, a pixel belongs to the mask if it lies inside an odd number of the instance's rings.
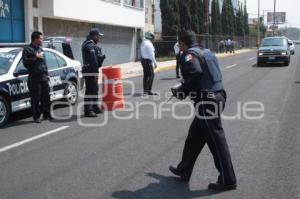
[[42,75],[48,75],[48,68],[44,59],[36,57],[37,53],[44,52],[40,46],[35,46],[32,43],[23,49],[22,61],[27,68],[29,75],[42,77]]

